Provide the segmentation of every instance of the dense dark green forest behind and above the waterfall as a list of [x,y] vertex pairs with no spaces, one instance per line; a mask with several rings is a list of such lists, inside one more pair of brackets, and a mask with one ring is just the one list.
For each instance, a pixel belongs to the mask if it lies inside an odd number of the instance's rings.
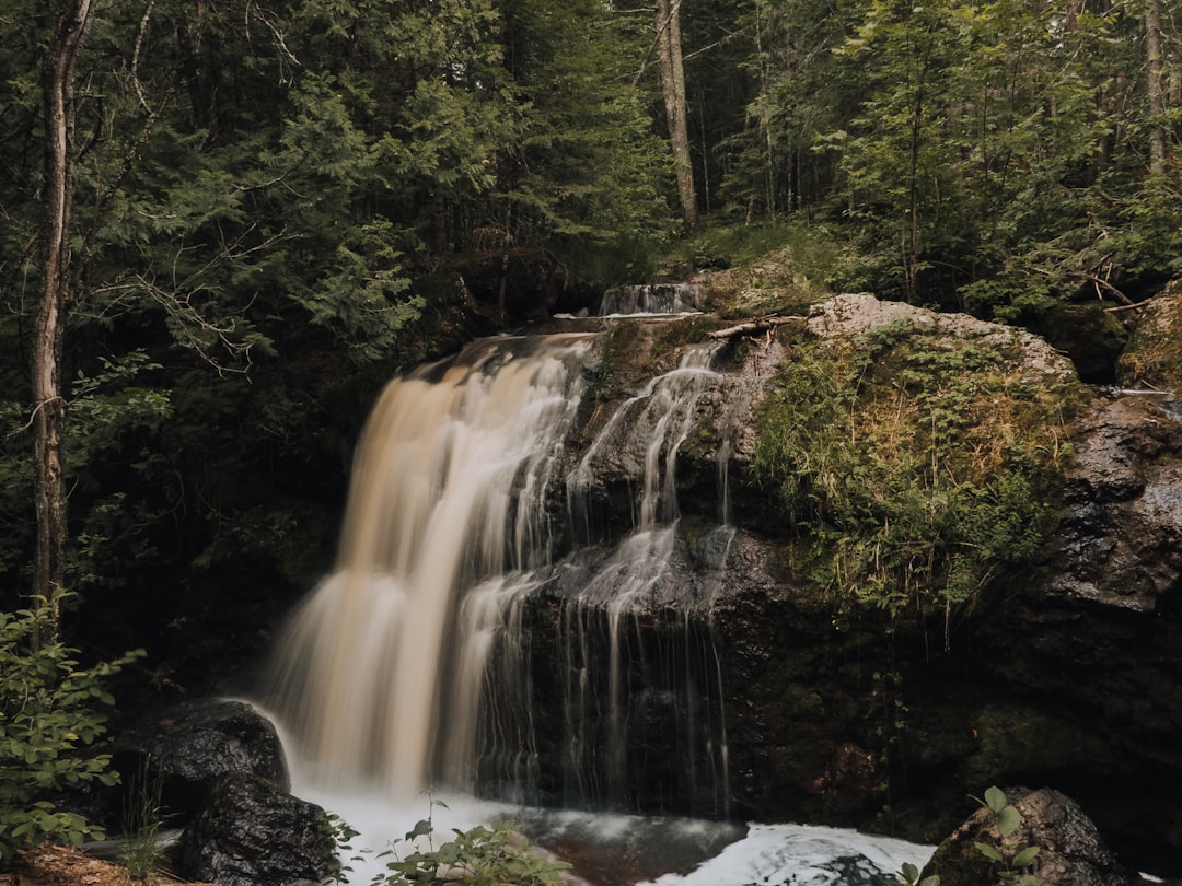
[[233,685],[383,383],[613,285],[794,245],[830,292],[1119,335],[1182,272],[1180,17],[6,0],[0,627]]

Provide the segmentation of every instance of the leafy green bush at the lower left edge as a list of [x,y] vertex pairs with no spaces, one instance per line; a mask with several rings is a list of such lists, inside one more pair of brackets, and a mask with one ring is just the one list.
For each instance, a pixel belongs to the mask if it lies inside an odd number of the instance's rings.
[[80,846],[99,828],[46,799],[70,786],[111,786],[110,755],[96,753],[105,732],[103,708],[115,699],[106,680],[141,653],[82,667],[77,650],[39,643],[53,621],[50,602],[0,612],[0,859],[45,840]]

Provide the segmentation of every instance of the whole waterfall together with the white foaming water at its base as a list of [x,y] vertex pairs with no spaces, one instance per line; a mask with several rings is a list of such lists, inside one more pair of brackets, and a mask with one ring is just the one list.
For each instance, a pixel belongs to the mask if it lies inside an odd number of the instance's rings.
[[[377,853],[430,813],[427,788],[446,791],[450,809],[434,814],[443,832],[507,814],[541,846],[577,847],[590,868],[637,859],[606,880],[585,871],[592,882],[853,886],[920,864],[923,847],[849,832],[753,827],[741,839],[743,828],[726,822],[520,806],[547,777],[539,745],[554,738],[534,723],[525,604],[573,575],[573,591],[554,598],[560,659],[547,665],[560,670],[560,698],[550,703],[563,709],[563,796],[628,809],[655,784],[713,815],[728,808],[710,601],[695,601],[707,613],[695,621],[687,604],[682,626],[655,649],[639,621],[676,584],[676,460],[695,405],[720,379],[713,352],[690,350],[619,404],[583,460],[567,464],[589,348],[584,337],[479,343],[453,364],[391,383],[366,425],[337,568],[291,623],[273,703],[294,793],[362,832],[350,881],[369,882],[382,871]],[[559,559],[566,522],[567,535],[578,526],[591,541],[602,517],[593,483],[629,448],[642,464],[632,530],[613,549]],[[725,458],[719,470],[725,488]],[[565,490],[565,515],[556,489]],[[719,569],[733,533],[712,534]],[[662,760],[638,757],[645,745],[631,721],[641,711],[676,734]],[[475,800],[473,788],[500,801]],[[585,860],[596,852],[598,862]],[[869,879],[832,879],[857,871]]]

